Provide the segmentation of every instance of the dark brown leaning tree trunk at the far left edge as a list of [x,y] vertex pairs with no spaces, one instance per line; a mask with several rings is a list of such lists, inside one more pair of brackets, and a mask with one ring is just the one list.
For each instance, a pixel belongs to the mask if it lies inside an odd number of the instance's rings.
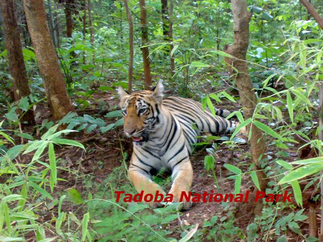
[[[19,101],[22,97],[28,96],[30,90],[22,53],[20,33],[15,15],[15,1],[0,1],[0,7],[3,16],[8,64],[11,76],[14,79],[14,97],[15,101]],[[23,115],[21,117],[22,122],[27,122],[29,125],[35,124],[34,112],[32,109],[28,110],[25,114],[23,114],[22,110],[19,110],[19,112]]]

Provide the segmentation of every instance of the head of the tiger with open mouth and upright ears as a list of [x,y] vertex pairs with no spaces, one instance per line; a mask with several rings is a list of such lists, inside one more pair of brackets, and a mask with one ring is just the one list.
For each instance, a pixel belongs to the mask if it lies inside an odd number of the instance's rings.
[[151,91],[129,94],[122,87],[118,88],[119,106],[125,120],[123,130],[127,137],[136,143],[146,142],[149,134],[160,127],[160,104],[163,101],[161,81]]

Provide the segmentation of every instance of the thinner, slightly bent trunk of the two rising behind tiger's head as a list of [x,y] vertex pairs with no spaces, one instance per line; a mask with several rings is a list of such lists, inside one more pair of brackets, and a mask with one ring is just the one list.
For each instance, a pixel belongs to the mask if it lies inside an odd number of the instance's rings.
[[133,23],[131,13],[128,7],[127,0],[123,0],[125,10],[127,13],[127,19],[129,23],[129,69],[128,69],[128,92],[132,91],[132,76],[133,76]]

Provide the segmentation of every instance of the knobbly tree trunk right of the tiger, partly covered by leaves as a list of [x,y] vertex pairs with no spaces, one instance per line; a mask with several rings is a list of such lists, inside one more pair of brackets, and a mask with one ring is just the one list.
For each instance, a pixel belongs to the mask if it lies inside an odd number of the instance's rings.
[[[247,11],[246,0],[232,0],[232,13],[234,22],[234,43],[229,45],[226,52],[235,58],[230,59],[229,65],[233,66],[238,73],[235,73],[235,83],[239,90],[245,118],[253,116],[257,105],[257,99],[253,91],[253,85],[249,76],[248,67],[245,62],[246,53],[249,44],[249,21],[251,14]],[[262,132],[251,125],[247,127],[248,131],[251,129],[250,149],[252,162],[255,164],[255,169],[259,170],[259,163],[261,159],[266,159],[266,144]],[[264,180],[266,175],[262,171],[257,171],[259,185],[261,191],[265,191],[267,183]],[[262,201],[256,205],[255,214],[261,213]]]

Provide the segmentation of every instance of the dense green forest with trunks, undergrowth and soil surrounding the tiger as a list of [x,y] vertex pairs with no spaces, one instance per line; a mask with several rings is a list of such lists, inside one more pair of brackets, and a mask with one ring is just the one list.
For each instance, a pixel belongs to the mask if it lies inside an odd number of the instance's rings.
[[[320,0],[0,8],[0,241],[321,239]],[[116,88],[158,80],[166,96],[234,111],[237,131],[251,130],[195,145],[193,192],[288,191],[292,202],[117,203],[114,191],[136,192]],[[163,171],[154,180],[171,184]]]

